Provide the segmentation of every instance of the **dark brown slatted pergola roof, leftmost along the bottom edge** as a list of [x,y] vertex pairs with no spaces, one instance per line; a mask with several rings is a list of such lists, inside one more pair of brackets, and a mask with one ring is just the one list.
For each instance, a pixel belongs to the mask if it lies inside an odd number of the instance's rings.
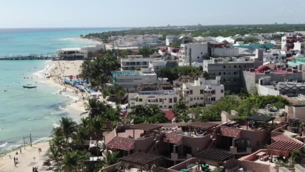
[[161,156],[147,154],[147,153],[143,153],[143,152],[136,152],[136,153],[133,153],[131,155],[121,158],[121,161],[145,165],[149,162],[159,160],[160,158],[161,158]]

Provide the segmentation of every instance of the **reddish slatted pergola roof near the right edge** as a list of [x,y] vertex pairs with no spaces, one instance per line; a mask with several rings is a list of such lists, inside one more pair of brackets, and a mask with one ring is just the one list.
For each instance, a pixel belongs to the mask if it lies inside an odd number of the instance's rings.
[[304,145],[303,143],[280,140],[270,144],[268,148],[275,150],[292,151],[303,147],[303,145]]

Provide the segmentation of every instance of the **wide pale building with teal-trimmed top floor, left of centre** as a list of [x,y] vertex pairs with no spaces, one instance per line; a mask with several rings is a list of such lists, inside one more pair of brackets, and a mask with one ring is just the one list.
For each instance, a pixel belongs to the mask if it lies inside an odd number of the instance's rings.
[[129,92],[136,90],[142,83],[156,83],[157,74],[151,68],[141,70],[112,71],[112,84],[119,84]]

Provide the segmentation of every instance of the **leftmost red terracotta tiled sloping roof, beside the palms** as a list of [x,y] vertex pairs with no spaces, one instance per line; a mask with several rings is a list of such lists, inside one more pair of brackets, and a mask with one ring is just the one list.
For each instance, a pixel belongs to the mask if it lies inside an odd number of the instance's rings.
[[134,149],[135,140],[123,137],[114,137],[106,146],[110,149],[132,150]]

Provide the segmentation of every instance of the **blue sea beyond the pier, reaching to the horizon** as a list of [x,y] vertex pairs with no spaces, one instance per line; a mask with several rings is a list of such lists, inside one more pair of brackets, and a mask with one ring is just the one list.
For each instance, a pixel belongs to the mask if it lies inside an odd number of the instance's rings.
[[56,49],[92,45],[75,41],[81,34],[116,31],[127,28],[30,28],[0,29],[0,56],[54,53]]

